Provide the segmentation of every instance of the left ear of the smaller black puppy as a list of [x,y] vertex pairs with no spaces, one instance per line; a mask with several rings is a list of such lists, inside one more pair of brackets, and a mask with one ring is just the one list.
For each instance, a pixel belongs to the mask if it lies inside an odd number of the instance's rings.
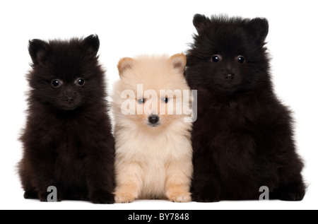
[[45,58],[47,52],[49,52],[49,44],[43,40],[33,39],[29,40],[28,49],[33,64],[38,64]]

